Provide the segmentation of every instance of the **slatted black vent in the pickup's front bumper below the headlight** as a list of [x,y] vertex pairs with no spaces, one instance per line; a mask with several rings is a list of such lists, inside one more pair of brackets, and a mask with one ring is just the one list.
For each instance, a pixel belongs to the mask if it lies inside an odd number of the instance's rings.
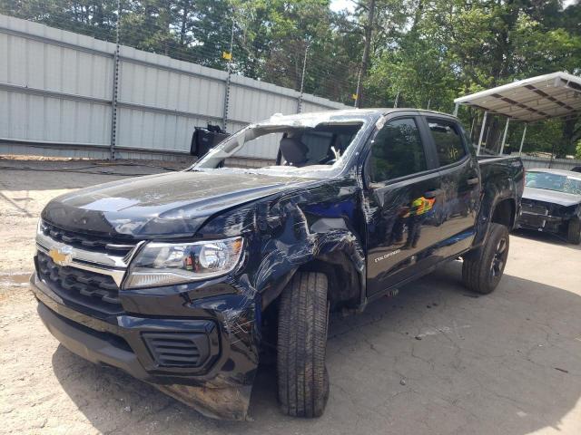
[[204,333],[143,333],[143,340],[162,367],[199,367],[209,353]]

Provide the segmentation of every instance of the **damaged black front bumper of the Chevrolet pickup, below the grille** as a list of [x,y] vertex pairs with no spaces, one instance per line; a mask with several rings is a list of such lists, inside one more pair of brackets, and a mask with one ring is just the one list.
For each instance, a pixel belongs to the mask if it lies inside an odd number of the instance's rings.
[[[242,298],[247,304],[239,304],[237,309],[231,307],[231,301],[228,303],[224,295],[202,298],[197,304],[190,301],[187,308],[182,300],[181,306],[175,309],[181,315],[160,317],[159,311],[165,310],[157,295],[149,301],[158,302],[158,312],[152,316],[123,313],[100,319],[68,304],[36,274],[31,276],[30,284],[43,323],[73,353],[150,382],[209,417],[246,418],[258,366],[256,307],[251,298]],[[172,303],[176,302],[175,295],[168,297]],[[138,304],[135,301],[143,298],[148,300],[147,295],[132,300]],[[226,306],[230,309],[224,310]],[[185,317],[184,310],[189,310],[191,315]],[[179,345],[165,345],[167,338],[177,339]],[[169,349],[172,359],[168,360],[167,354],[161,355],[153,342],[162,343],[162,350]],[[195,351],[192,347],[186,349],[188,358],[195,355],[195,363],[189,367],[172,365],[175,357],[172,352],[176,349],[182,352],[180,346],[184,343],[195,348]]]

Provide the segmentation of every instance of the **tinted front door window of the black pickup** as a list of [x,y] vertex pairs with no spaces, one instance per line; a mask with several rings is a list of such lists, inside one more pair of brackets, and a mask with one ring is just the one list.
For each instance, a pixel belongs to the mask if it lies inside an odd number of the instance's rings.
[[416,121],[402,118],[384,125],[373,141],[369,163],[373,182],[399,179],[428,169]]

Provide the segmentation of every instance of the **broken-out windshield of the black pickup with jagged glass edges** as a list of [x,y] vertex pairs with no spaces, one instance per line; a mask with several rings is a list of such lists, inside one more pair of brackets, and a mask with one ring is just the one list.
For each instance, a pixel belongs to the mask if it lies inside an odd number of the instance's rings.
[[321,178],[346,164],[350,145],[365,125],[361,117],[272,117],[238,131],[191,170],[243,170],[265,175]]

